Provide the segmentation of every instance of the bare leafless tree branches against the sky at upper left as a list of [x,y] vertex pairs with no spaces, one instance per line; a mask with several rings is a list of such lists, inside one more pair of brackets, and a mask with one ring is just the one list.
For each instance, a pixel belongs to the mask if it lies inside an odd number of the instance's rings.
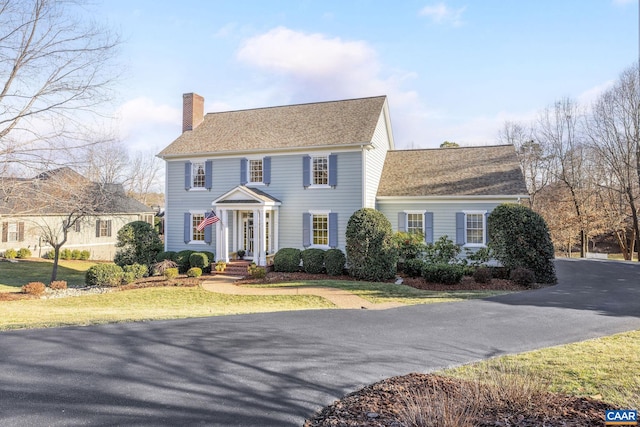
[[[0,0],[0,164],[42,170],[95,143],[85,125],[111,96],[119,44],[72,0]],[[7,170],[3,172],[8,172]]]

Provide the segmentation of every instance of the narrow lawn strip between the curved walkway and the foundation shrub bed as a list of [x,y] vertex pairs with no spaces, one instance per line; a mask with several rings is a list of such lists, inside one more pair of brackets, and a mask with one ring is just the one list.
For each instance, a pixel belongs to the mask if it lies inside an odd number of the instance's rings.
[[431,304],[437,302],[464,301],[474,298],[486,298],[506,293],[505,291],[423,291],[405,285],[380,282],[355,282],[349,280],[308,280],[268,285],[244,285],[247,287],[318,287],[325,286],[349,291],[372,303],[398,302],[402,304]]

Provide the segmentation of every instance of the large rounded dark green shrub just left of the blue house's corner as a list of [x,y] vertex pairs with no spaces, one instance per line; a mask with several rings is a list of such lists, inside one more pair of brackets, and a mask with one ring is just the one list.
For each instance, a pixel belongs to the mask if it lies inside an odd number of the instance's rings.
[[131,264],[153,265],[158,253],[163,250],[158,232],[147,222],[133,221],[118,230],[116,252],[113,262],[119,266]]

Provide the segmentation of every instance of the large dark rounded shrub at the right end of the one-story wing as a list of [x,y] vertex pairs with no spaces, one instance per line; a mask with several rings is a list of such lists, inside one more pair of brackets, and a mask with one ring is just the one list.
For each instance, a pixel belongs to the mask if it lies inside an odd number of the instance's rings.
[[509,269],[528,268],[538,283],[556,283],[553,243],[544,219],[516,204],[496,207],[488,219],[489,247]]

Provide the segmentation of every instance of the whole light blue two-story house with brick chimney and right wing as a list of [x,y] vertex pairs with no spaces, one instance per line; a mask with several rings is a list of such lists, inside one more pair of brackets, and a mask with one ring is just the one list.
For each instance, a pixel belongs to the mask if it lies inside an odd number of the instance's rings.
[[[528,198],[511,145],[395,150],[385,96],[204,115],[183,96],[183,132],[166,161],[165,247],[245,250],[259,265],[280,248],[345,249],[350,216],[383,212],[427,242],[486,244],[486,217]],[[214,210],[220,221],[199,231]]]

